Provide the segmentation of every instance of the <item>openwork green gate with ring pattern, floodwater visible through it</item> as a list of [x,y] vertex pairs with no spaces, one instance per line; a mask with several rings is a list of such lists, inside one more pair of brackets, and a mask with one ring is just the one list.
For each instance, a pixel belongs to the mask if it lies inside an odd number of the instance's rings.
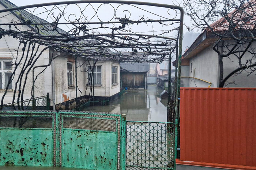
[[175,123],[126,123],[126,169],[175,169]]

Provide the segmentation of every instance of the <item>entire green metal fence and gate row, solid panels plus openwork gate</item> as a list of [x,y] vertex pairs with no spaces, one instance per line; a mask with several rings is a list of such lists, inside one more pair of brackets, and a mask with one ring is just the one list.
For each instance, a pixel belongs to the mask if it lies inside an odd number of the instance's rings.
[[0,166],[175,169],[174,130],[125,114],[1,111]]

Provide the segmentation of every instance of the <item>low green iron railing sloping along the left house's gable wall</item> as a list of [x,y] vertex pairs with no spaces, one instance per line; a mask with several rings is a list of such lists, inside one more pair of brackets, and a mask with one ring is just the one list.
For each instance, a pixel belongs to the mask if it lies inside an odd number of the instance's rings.
[[0,110],[50,110],[49,93],[46,96],[31,98],[0,106]]

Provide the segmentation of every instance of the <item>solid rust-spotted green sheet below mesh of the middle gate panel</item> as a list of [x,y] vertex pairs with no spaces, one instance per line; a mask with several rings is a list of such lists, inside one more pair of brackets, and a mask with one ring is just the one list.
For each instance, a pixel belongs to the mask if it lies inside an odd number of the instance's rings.
[[117,134],[63,130],[63,166],[85,169],[116,169]]

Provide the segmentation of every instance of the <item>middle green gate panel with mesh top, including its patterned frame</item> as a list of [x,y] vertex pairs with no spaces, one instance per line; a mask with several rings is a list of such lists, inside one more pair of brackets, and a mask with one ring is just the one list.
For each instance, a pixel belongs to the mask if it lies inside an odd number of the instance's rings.
[[60,166],[121,169],[121,115],[60,111]]

